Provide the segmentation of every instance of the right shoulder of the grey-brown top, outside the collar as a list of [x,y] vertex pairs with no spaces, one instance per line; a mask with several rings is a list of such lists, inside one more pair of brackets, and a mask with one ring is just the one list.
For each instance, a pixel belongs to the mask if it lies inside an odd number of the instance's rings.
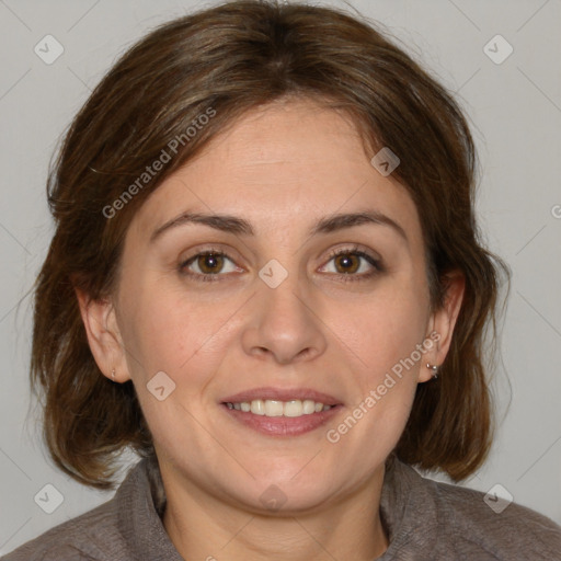
[[438,533],[455,551],[480,550],[505,561],[561,560],[561,527],[550,518],[496,495],[421,479],[436,506]]

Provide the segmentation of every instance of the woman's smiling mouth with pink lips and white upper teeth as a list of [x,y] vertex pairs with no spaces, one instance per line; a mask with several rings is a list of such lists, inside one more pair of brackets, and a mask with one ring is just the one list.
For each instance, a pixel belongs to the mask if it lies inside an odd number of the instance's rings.
[[325,424],[343,403],[309,389],[256,388],[226,398],[220,405],[236,422],[270,436],[298,436]]

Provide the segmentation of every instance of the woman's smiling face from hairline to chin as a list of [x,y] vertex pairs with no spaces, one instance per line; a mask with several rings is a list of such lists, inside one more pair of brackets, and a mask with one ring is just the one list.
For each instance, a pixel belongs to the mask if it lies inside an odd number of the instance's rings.
[[121,273],[102,369],[133,379],[162,469],[248,508],[379,478],[447,350],[412,199],[311,101],[247,114],[162,183]]

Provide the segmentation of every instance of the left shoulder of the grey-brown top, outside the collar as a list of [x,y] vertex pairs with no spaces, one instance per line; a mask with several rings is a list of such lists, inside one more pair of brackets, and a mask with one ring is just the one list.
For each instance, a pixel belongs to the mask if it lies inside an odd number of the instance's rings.
[[[0,561],[82,561],[112,559],[115,530],[114,501],[59,524],[0,558]],[[114,559],[114,558],[113,558]]]

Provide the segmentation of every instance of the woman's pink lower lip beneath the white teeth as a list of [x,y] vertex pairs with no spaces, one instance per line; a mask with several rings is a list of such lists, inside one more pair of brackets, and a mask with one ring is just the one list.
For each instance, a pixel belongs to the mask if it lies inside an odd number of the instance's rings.
[[324,425],[333,415],[336,415],[341,409],[341,405],[334,405],[328,411],[320,411],[319,413],[311,413],[309,415],[265,416],[238,411],[237,409],[229,409],[226,403],[222,403],[221,407],[236,421],[253,428],[257,433],[268,436],[299,436],[310,433]]

